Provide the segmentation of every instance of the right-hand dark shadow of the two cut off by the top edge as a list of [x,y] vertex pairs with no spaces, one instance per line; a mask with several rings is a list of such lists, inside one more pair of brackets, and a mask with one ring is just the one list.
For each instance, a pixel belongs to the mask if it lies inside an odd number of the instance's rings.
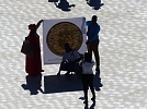
[[101,9],[104,3],[101,3],[101,0],[86,0],[87,3],[92,7],[94,10]]

